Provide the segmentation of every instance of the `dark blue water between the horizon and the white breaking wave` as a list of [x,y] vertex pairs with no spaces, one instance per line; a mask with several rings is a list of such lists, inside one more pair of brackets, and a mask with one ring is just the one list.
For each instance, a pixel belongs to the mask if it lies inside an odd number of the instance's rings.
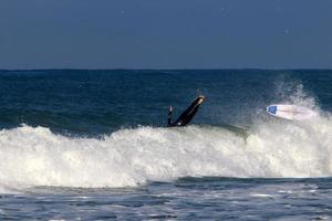
[[0,71],[0,129],[27,124],[100,136],[163,127],[169,105],[177,117],[197,90],[206,102],[193,124],[251,125],[270,104],[304,101],[332,112],[331,88],[332,71]]

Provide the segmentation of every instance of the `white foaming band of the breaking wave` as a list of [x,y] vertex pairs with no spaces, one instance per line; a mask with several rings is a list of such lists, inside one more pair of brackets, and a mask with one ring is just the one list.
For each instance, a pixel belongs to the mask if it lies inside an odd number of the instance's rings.
[[332,119],[266,120],[245,136],[224,127],[139,127],[102,139],[44,127],[0,133],[0,186],[133,187],[179,177],[330,177]]

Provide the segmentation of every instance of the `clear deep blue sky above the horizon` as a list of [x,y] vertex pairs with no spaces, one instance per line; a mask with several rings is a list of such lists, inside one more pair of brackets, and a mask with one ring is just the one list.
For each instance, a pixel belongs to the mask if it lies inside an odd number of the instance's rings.
[[332,0],[1,0],[0,69],[332,69]]

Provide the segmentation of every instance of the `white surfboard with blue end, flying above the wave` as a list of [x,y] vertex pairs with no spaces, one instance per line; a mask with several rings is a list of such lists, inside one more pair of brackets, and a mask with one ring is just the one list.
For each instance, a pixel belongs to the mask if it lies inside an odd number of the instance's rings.
[[314,110],[308,107],[289,104],[270,105],[267,107],[267,112],[272,116],[290,120],[303,120],[318,116],[318,114]]

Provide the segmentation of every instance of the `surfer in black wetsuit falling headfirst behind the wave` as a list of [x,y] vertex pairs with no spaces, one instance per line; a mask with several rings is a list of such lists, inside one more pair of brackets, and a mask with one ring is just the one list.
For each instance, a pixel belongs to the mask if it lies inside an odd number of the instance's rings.
[[205,97],[203,95],[199,95],[191,104],[190,106],[175,120],[172,123],[172,112],[173,107],[169,107],[168,110],[168,127],[180,127],[180,126],[186,126],[195,116],[197,113],[199,106],[204,102]]

